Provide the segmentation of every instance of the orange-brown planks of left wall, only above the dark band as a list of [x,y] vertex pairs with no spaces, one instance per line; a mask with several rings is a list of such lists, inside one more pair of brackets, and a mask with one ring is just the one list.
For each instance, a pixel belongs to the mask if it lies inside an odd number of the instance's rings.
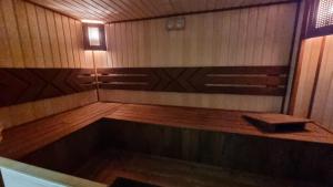
[[82,38],[77,31],[81,28],[73,27],[80,22],[22,0],[2,0],[0,14],[7,48],[0,51],[1,67],[93,66],[84,59],[73,59],[77,51],[83,51],[83,44],[77,41]]

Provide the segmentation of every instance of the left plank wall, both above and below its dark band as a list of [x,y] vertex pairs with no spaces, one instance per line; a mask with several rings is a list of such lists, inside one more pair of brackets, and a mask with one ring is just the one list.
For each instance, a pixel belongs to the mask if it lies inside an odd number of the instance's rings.
[[[0,67],[93,67],[81,28],[78,20],[22,0],[0,0]],[[0,124],[8,128],[95,101],[95,91],[89,91],[0,107]]]

